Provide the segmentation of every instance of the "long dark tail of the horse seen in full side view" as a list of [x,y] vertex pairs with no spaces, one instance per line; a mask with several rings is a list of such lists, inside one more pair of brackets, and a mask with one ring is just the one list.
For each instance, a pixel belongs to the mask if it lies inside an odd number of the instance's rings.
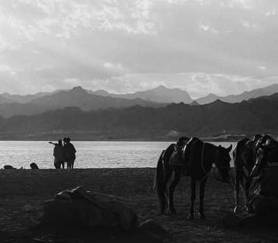
[[161,153],[161,156],[158,159],[156,165],[156,175],[154,181],[154,188],[156,189],[156,193],[158,196],[159,205],[161,208],[161,213],[165,211],[165,206],[167,204],[167,200],[165,198],[165,190],[166,190],[166,183],[165,183],[165,175],[164,175],[164,165],[163,165],[163,156],[165,150]]

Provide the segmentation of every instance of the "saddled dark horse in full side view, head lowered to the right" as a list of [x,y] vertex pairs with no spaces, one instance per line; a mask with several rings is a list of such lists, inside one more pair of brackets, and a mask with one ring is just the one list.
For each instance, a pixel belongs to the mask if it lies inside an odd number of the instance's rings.
[[[184,166],[187,164],[186,172],[191,178],[191,204],[188,218],[195,218],[195,188],[196,181],[200,181],[199,217],[201,219],[206,219],[206,216],[204,215],[204,189],[208,174],[211,171],[213,163],[215,163],[216,167],[222,174],[222,181],[229,181],[229,162],[231,160],[229,152],[231,151],[231,148],[232,145],[226,149],[221,145],[215,146],[214,144],[202,142],[202,140],[193,137],[182,150],[176,149],[176,153],[174,153],[175,148],[173,144],[163,151],[157,162],[155,176],[155,186],[161,213],[163,214],[165,212],[166,206],[168,206],[168,212],[171,212],[172,214],[177,213],[176,210],[174,210],[173,203],[174,189],[181,179]],[[177,157],[174,156],[174,154],[177,154]],[[174,157],[180,158],[180,163],[175,163],[173,161]],[[192,159],[192,161],[187,161],[189,158]]]

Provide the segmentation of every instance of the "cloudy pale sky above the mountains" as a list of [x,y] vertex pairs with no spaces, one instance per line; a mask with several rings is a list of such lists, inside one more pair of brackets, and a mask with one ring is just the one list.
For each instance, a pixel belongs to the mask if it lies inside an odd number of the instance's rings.
[[278,83],[277,0],[0,0],[0,92],[198,98]]

